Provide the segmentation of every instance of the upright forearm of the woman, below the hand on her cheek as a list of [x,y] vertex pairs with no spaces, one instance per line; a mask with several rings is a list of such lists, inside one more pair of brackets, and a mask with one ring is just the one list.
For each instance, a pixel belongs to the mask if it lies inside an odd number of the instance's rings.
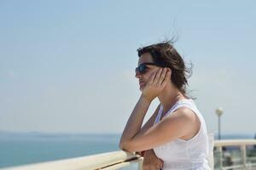
[[120,144],[131,140],[140,130],[143,125],[143,119],[148,111],[151,101],[144,98],[143,95],[137,102],[137,105],[131,112],[131,116],[126,123],[125,130],[120,139]]

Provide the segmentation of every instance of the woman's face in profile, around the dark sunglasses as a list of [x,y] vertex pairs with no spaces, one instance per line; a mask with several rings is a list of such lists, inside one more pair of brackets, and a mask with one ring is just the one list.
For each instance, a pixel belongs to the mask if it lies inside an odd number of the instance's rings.
[[[154,63],[151,54],[145,53],[141,55],[141,57],[138,59],[137,65],[139,66],[143,63]],[[146,66],[148,67],[148,69],[146,69],[144,73],[139,73],[137,71],[135,75],[135,77],[139,79],[140,90],[142,90],[146,86],[151,75],[159,69],[159,67],[156,65],[146,65]]]

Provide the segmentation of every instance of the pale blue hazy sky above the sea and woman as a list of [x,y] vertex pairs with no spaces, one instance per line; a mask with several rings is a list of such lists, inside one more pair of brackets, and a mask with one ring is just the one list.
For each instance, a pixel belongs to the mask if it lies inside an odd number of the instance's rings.
[[[256,133],[255,1],[0,1],[0,130],[121,133],[137,48],[177,35],[211,132]],[[158,104],[151,105],[146,120]]]

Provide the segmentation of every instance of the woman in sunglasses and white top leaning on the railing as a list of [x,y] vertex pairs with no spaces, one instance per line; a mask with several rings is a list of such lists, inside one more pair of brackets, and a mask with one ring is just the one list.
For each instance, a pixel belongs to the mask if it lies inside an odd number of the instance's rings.
[[[142,94],[125,126],[119,148],[155,154],[163,161],[155,169],[210,169],[207,126],[193,99],[186,95],[190,71],[182,57],[172,42],[153,44],[137,52],[136,77]],[[142,128],[155,98],[160,105]]]

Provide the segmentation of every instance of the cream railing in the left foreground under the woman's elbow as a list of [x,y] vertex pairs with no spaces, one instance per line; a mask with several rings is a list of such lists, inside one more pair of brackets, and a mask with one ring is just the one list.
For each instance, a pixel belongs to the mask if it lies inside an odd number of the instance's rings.
[[143,157],[123,150],[96,154],[93,156],[76,157],[60,161],[47,161],[26,166],[9,167],[1,170],[113,170],[138,163],[138,169],[143,169]]

